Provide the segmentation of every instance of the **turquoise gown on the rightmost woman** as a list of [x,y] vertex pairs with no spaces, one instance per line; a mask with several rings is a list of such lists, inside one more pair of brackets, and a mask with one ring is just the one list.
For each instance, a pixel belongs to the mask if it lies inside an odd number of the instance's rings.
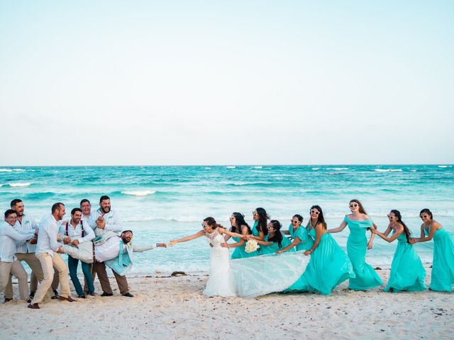
[[[426,236],[430,233],[424,228]],[[454,238],[444,228],[433,234],[431,290],[451,292],[454,285]]]

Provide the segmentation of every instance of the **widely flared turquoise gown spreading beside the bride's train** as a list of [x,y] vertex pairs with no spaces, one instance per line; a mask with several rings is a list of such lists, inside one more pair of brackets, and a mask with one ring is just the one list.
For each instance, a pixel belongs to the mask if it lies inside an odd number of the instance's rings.
[[[315,229],[309,231],[309,236],[316,238]],[[331,295],[331,290],[353,277],[355,273],[350,259],[327,232],[322,235],[319,246],[311,254],[304,274],[284,293],[312,292]]]

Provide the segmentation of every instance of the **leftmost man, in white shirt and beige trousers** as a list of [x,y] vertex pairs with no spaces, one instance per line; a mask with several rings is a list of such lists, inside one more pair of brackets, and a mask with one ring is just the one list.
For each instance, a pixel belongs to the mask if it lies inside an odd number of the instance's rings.
[[[27,272],[22,263],[18,261],[14,252],[16,242],[26,242],[35,234],[34,230],[18,232],[13,228],[16,224],[17,215],[14,210],[6,210],[5,222],[0,222],[0,292],[4,292],[10,279],[9,274],[18,278],[19,294],[22,300],[28,299]],[[6,299],[5,299],[6,300]]]

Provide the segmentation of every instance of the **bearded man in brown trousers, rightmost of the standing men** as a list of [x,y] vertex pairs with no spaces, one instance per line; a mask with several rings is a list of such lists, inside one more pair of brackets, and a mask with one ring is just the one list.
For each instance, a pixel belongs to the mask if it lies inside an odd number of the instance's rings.
[[[96,236],[102,236],[106,232],[115,232],[116,234],[119,234],[123,230],[121,217],[118,215],[118,212],[111,210],[111,199],[109,196],[101,196],[101,198],[99,198],[99,208],[96,212],[94,212],[94,218],[96,223],[94,233]],[[111,283],[109,282],[109,277],[107,276],[106,264],[104,262],[95,261],[93,266],[96,274],[98,275],[99,282],[101,283],[101,289],[103,290],[101,296],[114,295]],[[119,275],[116,271],[112,272],[114,273],[121,295],[134,297],[134,295],[129,293],[128,280],[126,280],[126,276]]]

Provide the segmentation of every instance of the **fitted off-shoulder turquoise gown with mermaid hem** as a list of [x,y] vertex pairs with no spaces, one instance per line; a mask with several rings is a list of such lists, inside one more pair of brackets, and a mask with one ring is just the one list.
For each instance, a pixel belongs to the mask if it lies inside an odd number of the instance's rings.
[[369,264],[366,263],[367,227],[372,227],[371,220],[353,221],[345,216],[350,235],[347,240],[347,254],[355,271],[355,278],[350,278],[348,288],[365,290],[382,285],[383,281]]

